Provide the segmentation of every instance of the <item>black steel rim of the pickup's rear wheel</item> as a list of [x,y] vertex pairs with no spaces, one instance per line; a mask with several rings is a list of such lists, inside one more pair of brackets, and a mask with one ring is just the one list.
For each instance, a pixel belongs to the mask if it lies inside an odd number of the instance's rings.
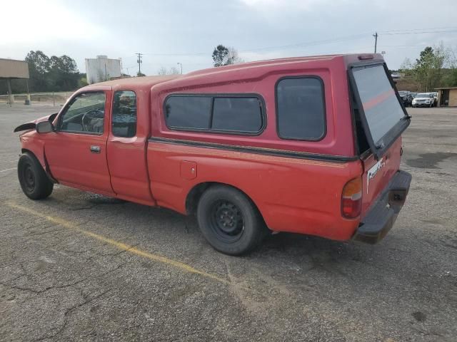
[[214,232],[226,242],[235,242],[243,234],[243,214],[228,200],[219,200],[213,204],[211,223]]

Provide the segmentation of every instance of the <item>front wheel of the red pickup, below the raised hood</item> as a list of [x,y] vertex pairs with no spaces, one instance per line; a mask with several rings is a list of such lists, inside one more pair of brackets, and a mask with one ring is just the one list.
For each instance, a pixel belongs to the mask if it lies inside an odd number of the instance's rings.
[[19,158],[17,175],[22,191],[30,199],[44,199],[51,195],[54,183],[34,155],[25,152]]

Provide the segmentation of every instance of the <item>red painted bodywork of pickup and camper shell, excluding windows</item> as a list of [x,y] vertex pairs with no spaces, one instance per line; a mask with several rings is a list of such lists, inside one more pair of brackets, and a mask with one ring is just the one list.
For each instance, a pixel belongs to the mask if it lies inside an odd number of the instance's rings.
[[[126,78],[87,86],[75,95],[91,90],[106,93],[103,135],[29,131],[21,136],[22,145],[34,152],[56,180],[71,187],[185,214],[187,196],[196,185],[219,182],[250,197],[274,231],[351,239],[368,207],[398,170],[401,147],[398,139],[389,150],[391,157],[384,157],[386,164],[368,185],[366,171],[376,160],[373,156],[357,159],[348,89],[347,66],[356,61],[357,55],[285,58],[211,68],[185,76]],[[322,79],[326,104],[326,135],[322,140],[278,138],[275,84],[283,76]],[[134,138],[117,138],[111,133],[111,103],[116,90],[136,93],[138,125]],[[258,136],[169,130],[163,103],[171,93],[258,93],[266,104],[266,129]],[[300,159],[148,141],[151,137],[355,160]],[[99,145],[101,152],[92,154],[91,145]],[[355,178],[362,180],[362,199],[350,204],[361,203],[361,214],[346,219],[342,214],[343,187]],[[354,209],[348,206],[347,210]],[[360,211],[359,207],[355,209]]]

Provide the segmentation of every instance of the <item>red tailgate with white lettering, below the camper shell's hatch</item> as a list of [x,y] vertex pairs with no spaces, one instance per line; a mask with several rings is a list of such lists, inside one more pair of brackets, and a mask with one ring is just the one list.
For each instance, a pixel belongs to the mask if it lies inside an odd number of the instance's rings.
[[379,160],[371,154],[363,160],[363,193],[361,218],[396,174],[401,160],[401,138],[398,138]]

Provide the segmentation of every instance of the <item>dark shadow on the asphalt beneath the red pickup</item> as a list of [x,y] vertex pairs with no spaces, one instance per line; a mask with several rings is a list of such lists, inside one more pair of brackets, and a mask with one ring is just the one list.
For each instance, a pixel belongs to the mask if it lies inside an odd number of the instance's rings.
[[[170,257],[175,249],[180,249],[194,260],[226,258],[206,242],[196,217],[186,217],[171,209],[148,207],[67,187],[56,190],[41,204],[51,210],[65,207],[69,212],[81,212],[78,214],[81,219],[90,217],[93,222],[116,229],[120,236],[141,237],[145,246],[149,243],[156,245],[161,237],[160,246],[164,250],[158,252]],[[228,258],[231,262],[241,261],[246,265],[265,266],[266,269],[276,269],[278,264],[275,262],[281,261],[286,269],[321,270],[344,276],[343,269],[349,264],[366,264],[373,260],[376,253],[373,251],[378,248],[302,234],[279,233],[269,235],[260,247],[243,257]]]

